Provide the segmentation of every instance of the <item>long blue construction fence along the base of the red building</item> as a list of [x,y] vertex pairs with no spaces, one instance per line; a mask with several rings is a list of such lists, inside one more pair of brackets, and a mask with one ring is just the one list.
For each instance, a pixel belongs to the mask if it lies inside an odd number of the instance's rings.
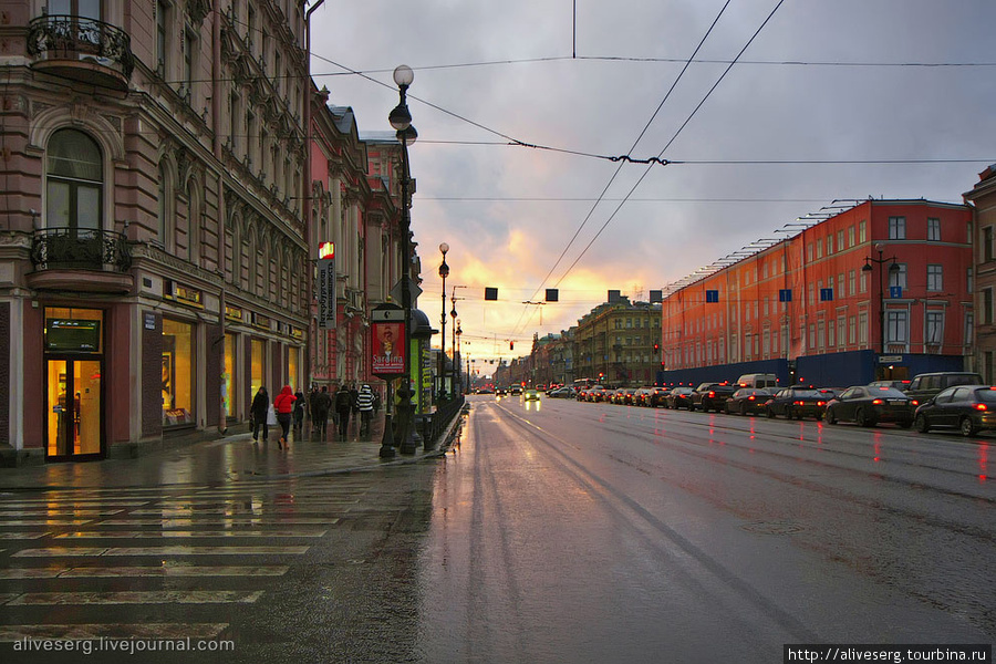
[[772,373],[779,385],[802,383],[819,387],[867,385],[879,378],[912,378],[936,371],[964,371],[962,355],[879,355],[873,351],[850,351],[805,355],[795,362],[785,359],[735,362],[714,366],[658,371],[657,384],[698,385],[705,382],[733,383],[744,374]]

